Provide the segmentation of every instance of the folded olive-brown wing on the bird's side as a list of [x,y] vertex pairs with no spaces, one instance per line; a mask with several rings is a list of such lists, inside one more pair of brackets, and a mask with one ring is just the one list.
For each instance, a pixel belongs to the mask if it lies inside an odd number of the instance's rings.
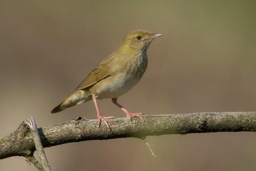
[[83,82],[76,88],[77,90],[81,90],[87,88],[102,79],[110,76],[110,70],[104,65],[98,65],[87,77],[84,79]]

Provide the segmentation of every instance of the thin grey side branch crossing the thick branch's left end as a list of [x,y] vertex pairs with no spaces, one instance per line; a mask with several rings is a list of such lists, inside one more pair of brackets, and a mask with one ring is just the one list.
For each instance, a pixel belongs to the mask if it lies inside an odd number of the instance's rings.
[[51,171],[50,165],[45,155],[45,151],[43,150],[42,142],[39,136],[38,128],[36,127],[36,122],[34,117],[31,117],[31,120],[26,121],[25,124],[30,129],[30,132],[32,134],[32,138],[35,144],[36,152],[38,153],[38,156],[40,158],[42,165],[36,162],[37,160],[35,159],[34,156],[28,156],[27,160],[32,161],[32,163],[36,166],[36,168],[38,168],[39,171],[41,171],[42,168],[43,168],[43,171]]

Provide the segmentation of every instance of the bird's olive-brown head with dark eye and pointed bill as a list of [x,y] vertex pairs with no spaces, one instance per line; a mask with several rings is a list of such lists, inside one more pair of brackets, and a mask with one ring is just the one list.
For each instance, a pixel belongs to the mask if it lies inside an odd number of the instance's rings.
[[147,50],[152,40],[162,35],[145,30],[133,30],[125,35],[121,47],[126,50]]

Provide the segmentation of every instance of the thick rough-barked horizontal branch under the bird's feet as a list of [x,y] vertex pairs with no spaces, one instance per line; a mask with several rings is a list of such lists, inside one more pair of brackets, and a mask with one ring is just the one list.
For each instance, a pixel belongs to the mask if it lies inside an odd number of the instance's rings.
[[[43,147],[86,140],[124,137],[142,138],[148,135],[187,134],[203,132],[256,131],[256,112],[209,112],[171,115],[144,115],[145,122],[134,118],[108,120],[111,130],[98,120],[76,120],[38,128]],[[30,130],[21,123],[10,135],[0,139],[0,159],[11,156],[31,156],[35,145]]]

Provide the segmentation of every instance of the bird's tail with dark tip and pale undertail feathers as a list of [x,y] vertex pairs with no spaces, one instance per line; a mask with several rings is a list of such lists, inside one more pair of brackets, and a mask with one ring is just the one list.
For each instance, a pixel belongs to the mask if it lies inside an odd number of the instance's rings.
[[92,96],[84,90],[75,90],[71,93],[62,103],[56,106],[51,113],[57,113],[65,110],[66,108],[84,103],[92,99]]

